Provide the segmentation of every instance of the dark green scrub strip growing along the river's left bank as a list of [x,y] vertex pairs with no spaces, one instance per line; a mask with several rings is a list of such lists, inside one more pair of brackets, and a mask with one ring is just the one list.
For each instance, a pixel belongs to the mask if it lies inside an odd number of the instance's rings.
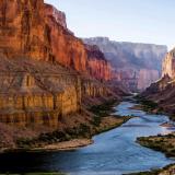
[[[42,133],[34,139],[20,138],[16,141],[20,149],[33,149],[39,148],[46,144],[52,144],[56,142],[69,141],[72,139],[90,139],[92,136],[116,128],[130,119],[131,117],[113,117],[109,116],[113,112],[112,107],[116,103],[115,100],[106,102],[98,106],[91,107],[91,119],[84,124],[79,124],[77,127],[66,128],[62,130],[56,130],[52,132]],[[108,117],[106,117],[108,116]]]

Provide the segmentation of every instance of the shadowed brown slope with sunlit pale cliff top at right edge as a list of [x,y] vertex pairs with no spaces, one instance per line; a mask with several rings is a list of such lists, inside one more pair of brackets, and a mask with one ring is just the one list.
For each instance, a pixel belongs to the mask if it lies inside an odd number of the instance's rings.
[[175,113],[175,49],[171,50],[162,66],[162,78],[152,83],[141,95],[154,101],[160,108],[174,115]]

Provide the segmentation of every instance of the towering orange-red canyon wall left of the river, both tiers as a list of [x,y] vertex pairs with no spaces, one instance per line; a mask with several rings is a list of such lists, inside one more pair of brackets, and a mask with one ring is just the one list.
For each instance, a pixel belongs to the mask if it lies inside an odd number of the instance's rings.
[[110,69],[103,52],[75,37],[52,5],[0,1],[0,122],[58,127],[88,97],[112,94],[105,84]]

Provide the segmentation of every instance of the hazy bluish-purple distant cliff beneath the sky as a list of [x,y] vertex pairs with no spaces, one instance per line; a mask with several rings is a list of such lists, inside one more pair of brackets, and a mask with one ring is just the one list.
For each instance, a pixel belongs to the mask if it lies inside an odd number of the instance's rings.
[[100,47],[115,69],[114,79],[131,91],[144,90],[161,75],[161,62],[167,51],[166,46],[119,43],[103,37],[83,40]]

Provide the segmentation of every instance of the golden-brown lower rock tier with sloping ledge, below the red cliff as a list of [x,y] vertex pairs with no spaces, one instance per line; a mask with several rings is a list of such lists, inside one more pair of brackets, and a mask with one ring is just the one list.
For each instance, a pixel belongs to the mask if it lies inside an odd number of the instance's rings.
[[0,121],[58,127],[81,105],[81,81],[59,66],[28,59],[0,59]]

